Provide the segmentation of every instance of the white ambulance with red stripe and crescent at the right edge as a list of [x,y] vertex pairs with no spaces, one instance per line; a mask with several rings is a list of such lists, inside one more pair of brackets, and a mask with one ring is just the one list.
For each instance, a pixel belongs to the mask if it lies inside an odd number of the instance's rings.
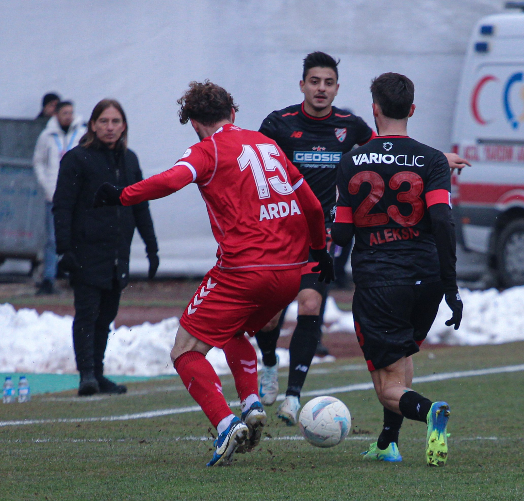
[[[511,4],[524,9],[524,2]],[[497,285],[522,285],[524,12],[488,16],[475,27],[452,141],[453,150],[472,164],[452,180],[458,240],[487,254]]]

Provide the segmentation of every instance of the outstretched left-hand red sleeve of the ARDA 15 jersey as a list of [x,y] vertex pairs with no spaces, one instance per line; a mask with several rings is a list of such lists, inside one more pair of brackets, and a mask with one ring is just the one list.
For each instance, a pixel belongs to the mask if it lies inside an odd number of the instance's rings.
[[122,205],[167,197],[192,182],[205,183],[215,168],[213,150],[202,143],[188,148],[171,169],[124,188],[120,195]]

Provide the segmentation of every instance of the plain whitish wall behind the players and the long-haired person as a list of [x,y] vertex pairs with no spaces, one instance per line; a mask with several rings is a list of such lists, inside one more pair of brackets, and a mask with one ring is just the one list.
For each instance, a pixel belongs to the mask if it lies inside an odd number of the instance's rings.
[[[36,116],[49,91],[88,118],[103,97],[122,102],[129,146],[145,176],[172,166],[195,143],[176,100],[209,78],[240,105],[237,124],[258,128],[272,110],[301,101],[302,58],[341,59],[335,104],[373,124],[369,82],[384,71],[416,87],[412,137],[450,146],[463,55],[478,18],[502,0],[0,0],[0,116]],[[198,274],[214,263],[195,186],[151,202],[160,271]],[[145,270],[135,239],[132,270]]]

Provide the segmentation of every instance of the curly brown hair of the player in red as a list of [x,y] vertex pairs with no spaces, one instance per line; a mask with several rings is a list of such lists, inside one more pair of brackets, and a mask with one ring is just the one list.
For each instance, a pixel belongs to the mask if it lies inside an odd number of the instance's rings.
[[192,118],[202,125],[210,126],[229,118],[231,108],[238,111],[233,96],[209,79],[203,82],[189,82],[189,90],[177,103],[180,104],[178,116],[181,124],[187,124]]

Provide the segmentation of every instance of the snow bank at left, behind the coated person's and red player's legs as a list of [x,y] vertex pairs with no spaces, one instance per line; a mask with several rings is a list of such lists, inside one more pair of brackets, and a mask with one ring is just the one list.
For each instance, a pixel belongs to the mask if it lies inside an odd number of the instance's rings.
[[[72,317],[36,310],[16,311],[0,304],[0,372],[74,373]],[[176,374],[169,353],[178,329],[178,318],[157,324],[145,322],[134,327],[121,326],[111,332],[105,352],[105,372],[113,375],[158,376]],[[252,343],[255,340],[252,339]],[[289,352],[277,348],[280,366],[289,365]],[[257,348],[259,361],[260,352]],[[213,348],[207,356],[218,374],[230,373],[222,350]],[[332,362],[334,357],[313,359],[313,363]]]

